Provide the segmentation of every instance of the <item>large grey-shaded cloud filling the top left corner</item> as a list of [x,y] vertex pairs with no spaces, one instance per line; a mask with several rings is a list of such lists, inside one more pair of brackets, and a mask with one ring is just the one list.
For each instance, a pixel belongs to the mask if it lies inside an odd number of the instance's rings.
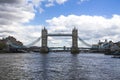
[[32,6],[25,0],[0,0],[0,24],[10,25],[29,22],[35,16]]

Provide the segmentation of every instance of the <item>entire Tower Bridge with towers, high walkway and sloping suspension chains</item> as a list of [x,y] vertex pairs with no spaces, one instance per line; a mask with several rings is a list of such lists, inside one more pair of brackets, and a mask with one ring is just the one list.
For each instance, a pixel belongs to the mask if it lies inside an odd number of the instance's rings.
[[[72,30],[72,33],[71,34],[66,34],[66,33],[53,33],[53,34],[50,34],[48,33],[47,29],[44,28],[42,29],[41,31],[41,37],[39,37],[38,39],[36,39],[35,41],[33,41],[32,43],[30,43],[29,45],[26,45],[25,47],[23,46],[16,46],[14,45],[11,41],[8,41],[9,45],[11,45],[13,48],[15,49],[26,49],[26,48],[29,48],[31,46],[33,46],[34,44],[36,44],[37,42],[39,42],[41,40],[41,47],[40,47],[40,52],[41,53],[48,53],[49,51],[51,51],[51,47],[48,47],[48,37],[49,36],[63,36],[63,37],[71,37],[72,38],[72,46],[71,47],[66,47],[64,49],[64,47],[60,47],[64,50],[67,50],[67,51],[71,51],[71,53],[79,53],[79,51],[83,48],[79,48],[78,47],[78,40],[81,41],[83,44],[89,46],[91,48],[91,45],[86,43],[84,40],[82,40],[79,36],[78,36],[78,30],[76,28],[74,28]],[[53,47],[54,49],[57,49],[58,47]],[[90,49],[89,48],[89,49]],[[88,48],[85,48],[85,49],[88,49]],[[38,50],[38,48],[37,48]]]

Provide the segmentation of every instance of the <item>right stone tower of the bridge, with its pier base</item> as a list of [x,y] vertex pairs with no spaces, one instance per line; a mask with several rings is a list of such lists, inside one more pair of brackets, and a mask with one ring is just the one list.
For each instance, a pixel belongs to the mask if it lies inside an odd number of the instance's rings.
[[76,28],[72,31],[72,48],[71,53],[79,53],[78,48],[78,30]]

